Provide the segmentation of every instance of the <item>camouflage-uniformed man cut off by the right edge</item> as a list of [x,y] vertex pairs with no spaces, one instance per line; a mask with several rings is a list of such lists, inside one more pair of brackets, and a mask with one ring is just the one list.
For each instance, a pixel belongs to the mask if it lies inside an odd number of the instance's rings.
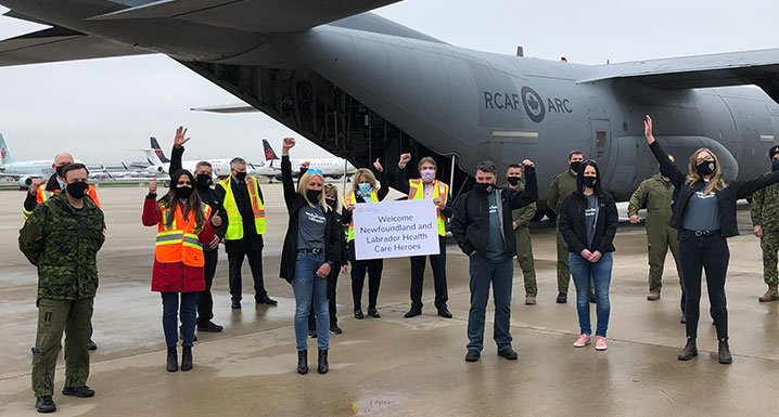
[[[779,170],[779,146],[768,152],[771,170]],[[763,249],[763,278],[768,291],[758,298],[759,302],[779,300],[777,290],[777,251],[779,250],[779,184],[769,185],[752,194],[752,224],[755,236],[761,238]]]

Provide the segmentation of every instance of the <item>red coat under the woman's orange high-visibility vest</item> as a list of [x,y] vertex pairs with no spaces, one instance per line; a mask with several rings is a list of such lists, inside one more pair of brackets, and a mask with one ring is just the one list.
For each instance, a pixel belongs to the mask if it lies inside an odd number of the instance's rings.
[[[143,201],[143,214],[141,220],[144,226],[155,226],[163,219],[157,210],[157,203],[154,198],[146,198]],[[210,221],[206,223],[203,231],[197,235],[201,244],[208,245],[214,238],[215,231]],[[152,291],[156,292],[195,292],[205,290],[204,269],[184,265],[183,262],[162,263],[154,260],[152,269]]]

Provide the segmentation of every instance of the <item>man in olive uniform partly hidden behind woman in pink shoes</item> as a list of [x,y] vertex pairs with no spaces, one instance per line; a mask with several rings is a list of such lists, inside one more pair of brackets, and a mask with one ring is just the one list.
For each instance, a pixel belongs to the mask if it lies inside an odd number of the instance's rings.
[[[579,166],[584,161],[585,155],[582,151],[571,151],[569,154],[569,169],[559,173],[552,180],[547,193],[547,206],[555,214],[560,210],[560,205],[565,197],[576,192],[576,175]],[[557,302],[564,304],[567,302],[569,284],[571,284],[571,269],[569,268],[569,250],[565,247],[563,235],[560,234],[559,225],[555,227],[558,233],[558,299]],[[595,287],[593,287],[595,288]],[[590,297],[590,300],[595,296]]]

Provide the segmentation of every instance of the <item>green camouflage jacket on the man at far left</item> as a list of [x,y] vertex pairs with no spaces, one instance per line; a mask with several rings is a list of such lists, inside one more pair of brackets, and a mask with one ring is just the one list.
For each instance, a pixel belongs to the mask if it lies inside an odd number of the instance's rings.
[[103,212],[89,198],[74,209],[65,194],[39,204],[20,231],[18,247],[38,266],[38,299],[78,300],[98,290]]

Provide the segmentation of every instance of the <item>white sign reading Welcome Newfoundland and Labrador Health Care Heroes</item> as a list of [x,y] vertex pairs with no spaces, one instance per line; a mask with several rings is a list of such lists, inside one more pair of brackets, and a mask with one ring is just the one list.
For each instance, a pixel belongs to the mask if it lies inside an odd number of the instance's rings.
[[430,198],[355,206],[357,260],[438,255],[438,223]]

